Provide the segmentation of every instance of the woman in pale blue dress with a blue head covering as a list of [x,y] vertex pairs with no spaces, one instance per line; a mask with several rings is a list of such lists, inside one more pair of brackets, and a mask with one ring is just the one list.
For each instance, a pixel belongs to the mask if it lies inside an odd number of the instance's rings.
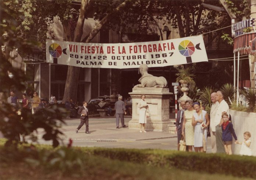
[[[207,114],[207,112],[205,110],[201,111],[200,104],[198,102],[193,103],[193,108],[196,110],[196,112],[193,113],[193,117],[192,117],[192,126],[195,127],[194,148],[195,148],[196,152],[204,152],[203,151],[203,137],[205,137],[205,141],[206,141],[207,140],[207,127],[210,124],[209,115]],[[201,127],[202,122],[204,123],[202,125],[203,129]]]

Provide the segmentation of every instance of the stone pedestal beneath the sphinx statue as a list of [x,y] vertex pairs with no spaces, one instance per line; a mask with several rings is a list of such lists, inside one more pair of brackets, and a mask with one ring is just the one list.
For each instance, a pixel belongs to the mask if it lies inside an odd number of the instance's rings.
[[168,88],[137,87],[129,93],[132,98],[132,120],[129,121],[129,129],[139,129],[138,102],[141,95],[145,94],[151,116],[147,118],[146,131],[168,132],[170,96]]

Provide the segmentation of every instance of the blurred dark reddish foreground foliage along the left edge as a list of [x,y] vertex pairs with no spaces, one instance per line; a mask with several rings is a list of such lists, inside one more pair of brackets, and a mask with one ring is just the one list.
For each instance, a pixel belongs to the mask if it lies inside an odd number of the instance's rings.
[[[48,1],[42,2],[49,3]],[[0,43],[2,47],[0,49],[0,93],[9,94],[9,91],[13,89],[16,91],[25,90],[25,81],[28,78],[21,69],[13,68],[8,60],[10,51],[14,48],[18,48],[19,55],[24,57],[35,45],[38,45],[38,43],[27,40],[28,37],[33,35],[33,33],[29,32],[29,29],[32,29],[30,25],[35,21],[32,18],[35,15],[33,13],[35,13],[36,5],[29,0],[3,0],[0,3]],[[14,77],[10,78],[7,71],[13,73]],[[63,133],[58,128],[64,123],[61,120],[61,117],[65,114],[64,109],[58,107],[47,108],[35,115],[23,109],[21,114],[18,112],[20,112],[19,107],[6,104],[1,99],[0,131],[7,138],[6,146],[14,145],[17,148],[18,144],[21,143],[20,136],[24,138],[24,142],[26,136],[31,136],[32,140],[36,141],[33,132],[36,132],[38,128],[45,130],[43,138],[52,140],[54,147],[59,144],[58,137]],[[55,116],[60,121],[47,119],[48,116]]]

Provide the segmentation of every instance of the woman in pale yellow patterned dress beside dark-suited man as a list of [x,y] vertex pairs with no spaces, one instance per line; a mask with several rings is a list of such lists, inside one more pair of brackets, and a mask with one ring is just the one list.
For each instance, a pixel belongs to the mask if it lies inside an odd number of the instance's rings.
[[185,134],[185,141],[188,151],[192,152],[192,147],[194,145],[194,127],[192,126],[192,117],[195,110],[192,106],[193,101],[186,101],[185,104],[186,111],[184,112],[183,116],[182,136]]

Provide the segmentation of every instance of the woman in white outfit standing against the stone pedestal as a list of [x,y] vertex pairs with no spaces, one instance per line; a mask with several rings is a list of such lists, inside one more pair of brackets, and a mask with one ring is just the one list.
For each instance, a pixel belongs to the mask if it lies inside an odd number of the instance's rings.
[[[147,123],[147,116],[146,116],[146,110],[149,107],[147,105],[147,102],[145,101],[145,94],[141,95],[141,100],[138,103],[138,107],[139,107],[139,132],[144,132],[145,131],[145,123]],[[142,128],[142,129],[141,129]]]

